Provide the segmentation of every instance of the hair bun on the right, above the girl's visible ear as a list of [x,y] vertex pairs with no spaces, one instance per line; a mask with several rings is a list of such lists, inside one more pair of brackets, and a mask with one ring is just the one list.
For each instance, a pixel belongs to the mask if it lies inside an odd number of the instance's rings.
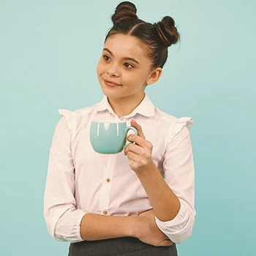
[[154,26],[166,47],[178,42],[180,35],[178,34],[173,18],[165,16],[158,23],[154,23]]

